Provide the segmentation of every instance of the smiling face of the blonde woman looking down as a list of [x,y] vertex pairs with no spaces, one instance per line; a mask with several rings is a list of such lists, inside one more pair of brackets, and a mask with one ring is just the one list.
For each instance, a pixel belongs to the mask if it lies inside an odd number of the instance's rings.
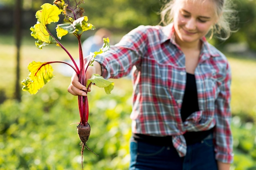
[[179,0],[175,3],[173,24],[177,43],[198,43],[217,22],[215,4],[211,0]]

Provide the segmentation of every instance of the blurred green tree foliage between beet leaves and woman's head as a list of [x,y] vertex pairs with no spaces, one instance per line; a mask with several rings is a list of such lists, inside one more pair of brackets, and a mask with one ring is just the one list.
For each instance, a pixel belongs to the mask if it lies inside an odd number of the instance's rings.
[[158,24],[161,5],[161,0],[86,0],[83,8],[96,28],[127,33],[139,25]]

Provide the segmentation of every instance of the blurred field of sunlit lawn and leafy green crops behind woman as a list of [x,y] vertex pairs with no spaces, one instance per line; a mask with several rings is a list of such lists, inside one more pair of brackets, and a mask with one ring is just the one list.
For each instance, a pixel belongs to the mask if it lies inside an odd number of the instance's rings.
[[[0,170],[74,170],[81,169],[77,98],[67,92],[70,76],[60,64],[53,65],[56,77],[38,94],[21,92],[20,103],[12,100],[15,82],[16,48],[14,39],[0,35]],[[64,43],[72,55],[76,46]],[[20,79],[27,77],[31,61],[66,60],[67,54],[54,45],[39,50],[33,38],[21,47]],[[227,54],[232,69],[232,130],[235,161],[232,170],[249,170],[256,161],[256,59]],[[21,81],[20,80],[20,81]],[[125,170],[129,163],[132,86],[129,79],[112,80],[110,95],[92,87],[89,95],[89,122],[92,134],[88,146],[99,155],[84,152],[87,170]]]

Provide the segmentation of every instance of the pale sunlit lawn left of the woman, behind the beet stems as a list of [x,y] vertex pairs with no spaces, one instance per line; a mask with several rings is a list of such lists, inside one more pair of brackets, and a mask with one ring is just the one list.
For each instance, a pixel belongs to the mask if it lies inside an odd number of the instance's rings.
[[[33,40],[32,40],[33,42]],[[74,52],[74,48],[71,51]],[[0,80],[2,83],[0,89],[6,89],[7,96],[13,94],[14,83],[16,79],[16,48],[11,44],[1,44],[0,46]],[[31,61],[54,61],[68,59],[67,54],[61,48],[55,46],[46,47],[43,50],[39,50],[36,46],[24,45],[20,49],[20,77],[22,81],[29,74],[27,65]],[[53,67],[58,66],[54,64]],[[54,72],[56,74],[56,72]],[[58,78],[64,79],[65,77],[58,75]],[[65,84],[65,81],[64,81]],[[67,83],[68,84],[68,83]],[[66,84],[66,85],[67,85]]]

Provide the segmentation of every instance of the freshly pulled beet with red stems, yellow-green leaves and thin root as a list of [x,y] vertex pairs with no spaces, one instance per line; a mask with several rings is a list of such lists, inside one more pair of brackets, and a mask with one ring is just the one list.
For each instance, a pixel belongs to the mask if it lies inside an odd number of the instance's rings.
[[[41,10],[36,12],[37,23],[30,28],[31,36],[37,39],[35,42],[36,47],[42,49],[44,46],[49,44],[56,44],[56,46],[61,47],[68,54],[72,60],[74,66],[70,63],[64,61],[51,61],[51,62],[36,62],[32,61],[28,65],[28,70],[30,72],[29,77],[24,79],[21,83],[23,85],[22,90],[29,92],[30,94],[36,94],[38,89],[42,88],[46,83],[48,83],[53,77],[53,68],[50,64],[52,63],[64,63],[69,65],[74,69],[77,76],[79,77],[79,82],[82,85],[85,85],[87,88],[94,83],[98,87],[104,87],[105,92],[110,94],[111,90],[114,87],[114,83],[104,79],[99,74],[93,74],[92,78],[86,80],[85,73],[90,65],[94,61],[94,57],[97,54],[106,52],[109,47],[109,39],[103,39],[104,44],[99,51],[90,54],[88,62],[84,63],[83,52],[81,47],[81,35],[84,31],[94,30],[95,27],[88,23],[88,17],[83,16],[84,9],[79,7],[83,3],[83,0],[67,0],[67,3],[64,0],[55,0],[53,4],[45,3],[41,6]],[[74,61],[72,55],[67,51],[67,49],[60,43],[60,41],[52,35],[52,33],[47,28],[48,24],[52,22],[59,21],[59,15],[63,14],[65,16],[64,24],[58,24],[56,27],[56,35],[58,39],[61,39],[63,36],[68,33],[73,34],[78,39],[79,46],[79,66]],[[87,91],[85,92],[87,93]],[[88,124],[89,116],[89,107],[88,107],[88,97],[87,96],[78,96],[79,102],[79,113],[80,113],[80,123],[77,126],[79,138],[81,139],[82,144],[82,158],[83,150],[88,141],[90,135],[90,125]],[[90,148],[88,148],[90,150]],[[92,151],[92,150],[91,150]],[[83,166],[83,164],[82,164]]]

